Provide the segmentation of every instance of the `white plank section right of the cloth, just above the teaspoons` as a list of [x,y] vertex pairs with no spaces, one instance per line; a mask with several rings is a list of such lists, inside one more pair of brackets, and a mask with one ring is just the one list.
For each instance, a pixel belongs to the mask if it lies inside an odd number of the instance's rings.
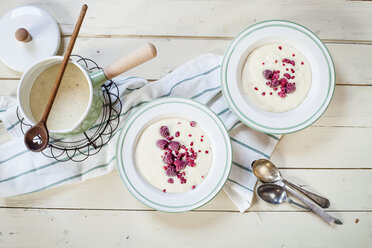
[[310,127],[287,134],[271,159],[279,167],[371,168],[371,128]]

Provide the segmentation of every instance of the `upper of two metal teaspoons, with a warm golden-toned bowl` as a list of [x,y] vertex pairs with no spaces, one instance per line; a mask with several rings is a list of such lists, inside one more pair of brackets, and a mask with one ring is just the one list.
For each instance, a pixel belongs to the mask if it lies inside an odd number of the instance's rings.
[[252,169],[253,169],[254,175],[263,182],[274,183],[277,181],[282,181],[285,185],[291,188],[294,188],[300,191],[301,193],[303,193],[304,195],[306,195],[307,197],[309,197],[311,200],[313,200],[315,203],[317,203],[322,208],[328,208],[330,205],[330,202],[327,198],[311,193],[285,180],[280,174],[278,168],[276,168],[275,165],[267,159],[258,159],[254,161],[252,164]]

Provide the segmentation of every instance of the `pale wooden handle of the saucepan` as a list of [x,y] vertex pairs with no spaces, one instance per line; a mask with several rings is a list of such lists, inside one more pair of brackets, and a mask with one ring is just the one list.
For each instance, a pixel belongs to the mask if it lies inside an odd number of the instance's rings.
[[127,56],[115,61],[109,65],[103,72],[107,79],[112,79],[123,72],[126,72],[156,56],[156,48],[153,44],[148,43],[137,50],[131,52]]

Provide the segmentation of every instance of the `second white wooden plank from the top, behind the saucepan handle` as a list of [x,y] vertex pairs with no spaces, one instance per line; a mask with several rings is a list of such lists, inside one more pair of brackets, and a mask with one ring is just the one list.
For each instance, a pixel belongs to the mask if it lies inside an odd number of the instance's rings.
[[[63,44],[68,43],[65,38]],[[95,60],[104,67],[146,42],[153,42],[158,56],[126,73],[148,79],[158,79],[192,58],[204,53],[223,55],[230,40],[206,39],[130,39],[130,38],[79,38],[74,52]],[[372,65],[372,45],[326,43],[333,56],[338,84],[372,85],[369,68]],[[61,50],[66,49],[62,45]],[[61,53],[60,53],[61,54]],[[20,78],[19,73],[0,62],[0,78]],[[0,87],[0,94],[2,87]]]

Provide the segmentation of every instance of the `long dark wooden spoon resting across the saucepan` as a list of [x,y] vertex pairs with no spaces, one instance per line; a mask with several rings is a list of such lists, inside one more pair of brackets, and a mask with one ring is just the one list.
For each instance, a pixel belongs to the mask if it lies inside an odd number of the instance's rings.
[[48,116],[50,113],[50,110],[52,109],[54,99],[56,98],[59,85],[61,84],[63,74],[65,72],[68,60],[70,59],[70,55],[72,52],[72,49],[74,48],[76,38],[79,34],[81,24],[83,23],[85,13],[87,12],[88,6],[86,4],[83,5],[80,11],[79,19],[77,20],[75,24],[74,31],[72,32],[72,36],[70,39],[70,42],[68,43],[67,51],[65,56],[63,57],[61,67],[59,68],[56,82],[54,83],[54,87],[52,89],[52,92],[49,96],[48,103],[45,107],[43,117],[37,123],[35,126],[31,127],[26,133],[25,133],[25,145],[26,147],[33,152],[40,152],[44,150],[49,142],[49,132],[46,125],[46,122],[48,120]]

